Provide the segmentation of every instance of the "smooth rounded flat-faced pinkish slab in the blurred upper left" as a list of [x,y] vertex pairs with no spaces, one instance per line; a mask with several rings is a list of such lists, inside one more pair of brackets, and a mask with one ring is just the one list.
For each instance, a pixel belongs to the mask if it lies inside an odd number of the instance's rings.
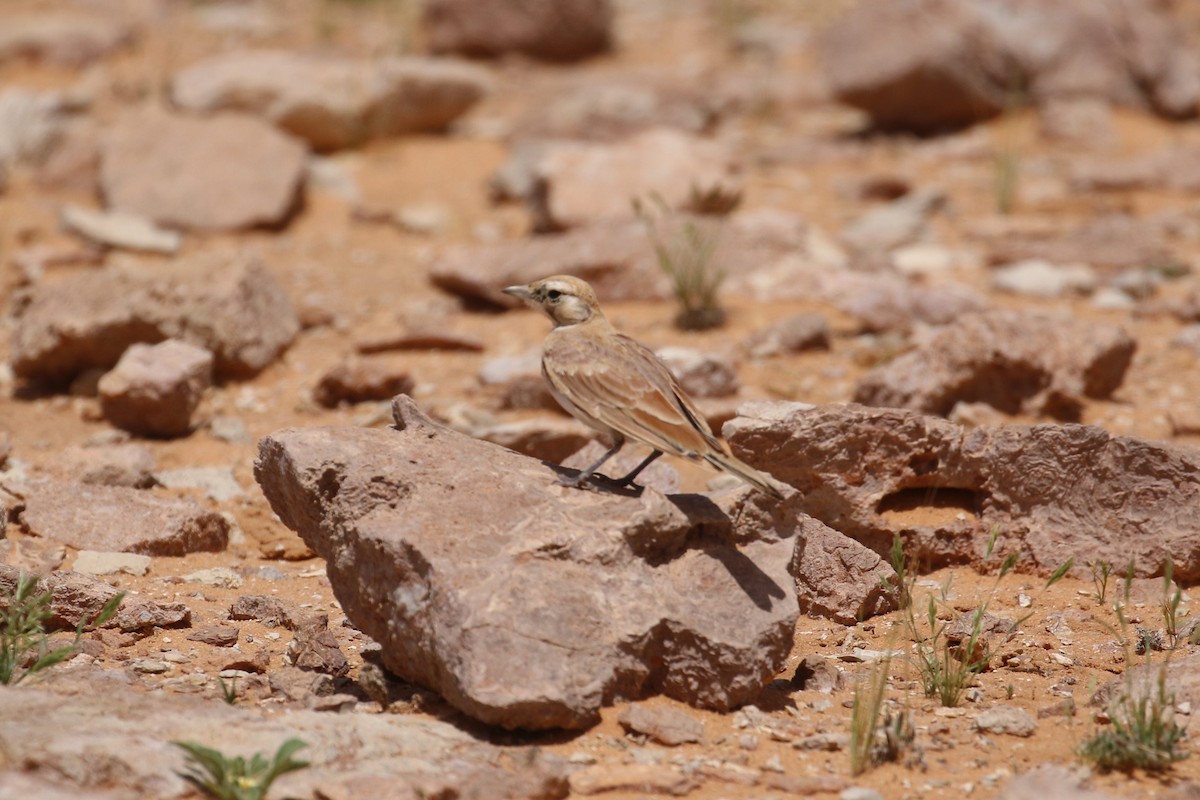
[[108,206],[173,228],[282,224],[304,182],[305,146],[246,114],[142,110],[118,120],[102,149]]

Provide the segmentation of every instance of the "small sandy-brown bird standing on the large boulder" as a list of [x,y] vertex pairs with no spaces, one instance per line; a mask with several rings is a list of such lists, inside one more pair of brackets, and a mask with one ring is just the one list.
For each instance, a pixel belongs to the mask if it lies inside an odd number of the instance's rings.
[[562,483],[580,486],[632,439],[653,452],[617,481],[622,486],[632,483],[662,453],[671,453],[707,462],[767,494],[784,497],[779,481],[730,453],[649,348],[617,332],[586,281],[556,275],[504,291],[554,323],[542,345],[541,374],[563,408],[613,443],[596,463]]

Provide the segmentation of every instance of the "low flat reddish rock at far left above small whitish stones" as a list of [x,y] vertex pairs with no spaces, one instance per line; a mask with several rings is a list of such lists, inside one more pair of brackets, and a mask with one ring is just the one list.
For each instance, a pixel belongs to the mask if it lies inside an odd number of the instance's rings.
[[222,551],[229,539],[224,517],[194,500],[59,481],[30,482],[23,494],[28,533],[80,551],[185,555]]

